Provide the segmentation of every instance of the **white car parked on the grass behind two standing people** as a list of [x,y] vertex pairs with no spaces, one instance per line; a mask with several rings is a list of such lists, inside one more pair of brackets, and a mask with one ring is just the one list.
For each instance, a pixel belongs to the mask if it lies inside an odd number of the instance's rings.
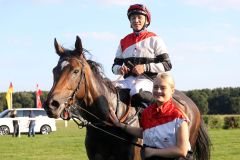
[[[13,133],[13,118],[10,117],[12,110],[4,110],[0,113],[0,135]],[[35,115],[35,132],[49,134],[56,131],[56,121],[49,118],[44,109],[40,108],[17,108],[17,116],[14,119],[19,121],[20,133],[27,133],[30,123],[29,113],[33,111]]]

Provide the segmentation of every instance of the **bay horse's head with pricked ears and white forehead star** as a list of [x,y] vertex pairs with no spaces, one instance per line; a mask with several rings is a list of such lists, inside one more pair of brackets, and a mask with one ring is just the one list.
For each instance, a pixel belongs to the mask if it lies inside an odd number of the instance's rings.
[[53,69],[54,82],[44,103],[49,117],[64,117],[66,109],[74,103],[75,97],[84,97],[85,69],[87,64],[81,39],[77,36],[75,49],[68,50],[60,46],[55,39],[56,53],[60,56]]

